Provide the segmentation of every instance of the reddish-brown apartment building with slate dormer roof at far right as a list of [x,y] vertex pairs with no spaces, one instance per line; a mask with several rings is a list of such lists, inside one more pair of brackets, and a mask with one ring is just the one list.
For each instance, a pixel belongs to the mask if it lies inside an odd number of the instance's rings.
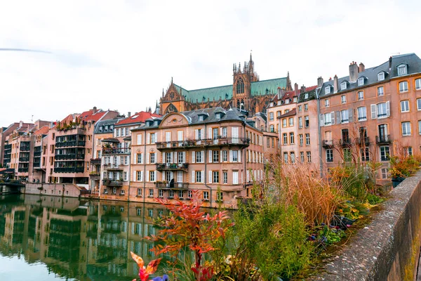
[[394,55],[366,68],[349,65],[349,75],[319,87],[323,171],[351,158],[382,166],[377,181],[389,180],[389,155],[421,150],[421,60]]

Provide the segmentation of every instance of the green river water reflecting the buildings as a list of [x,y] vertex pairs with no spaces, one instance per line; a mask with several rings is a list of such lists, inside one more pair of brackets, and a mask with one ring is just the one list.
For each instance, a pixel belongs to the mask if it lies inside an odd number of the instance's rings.
[[0,197],[0,280],[133,280],[154,259],[159,204],[39,195]]

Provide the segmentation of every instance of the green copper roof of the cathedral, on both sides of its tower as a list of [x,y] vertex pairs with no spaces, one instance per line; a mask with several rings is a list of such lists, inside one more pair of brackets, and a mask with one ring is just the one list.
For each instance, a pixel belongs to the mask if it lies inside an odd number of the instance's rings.
[[[196,103],[196,100],[201,103],[202,101],[209,100],[230,100],[232,99],[232,85],[219,86],[206,89],[197,89],[187,91],[184,88],[174,84],[175,89],[185,96],[186,100]],[[277,92],[278,87],[281,89],[286,88],[286,78],[277,78],[270,80],[263,80],[251,83],[251,96],[265,96],[272,95]]]

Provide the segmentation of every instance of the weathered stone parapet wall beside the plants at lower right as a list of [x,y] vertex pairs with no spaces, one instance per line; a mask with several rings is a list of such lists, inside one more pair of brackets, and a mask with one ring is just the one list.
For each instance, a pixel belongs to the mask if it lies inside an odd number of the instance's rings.
[[414,280],[421,233],[421,171],[390,193],[323,273],[310,280]]

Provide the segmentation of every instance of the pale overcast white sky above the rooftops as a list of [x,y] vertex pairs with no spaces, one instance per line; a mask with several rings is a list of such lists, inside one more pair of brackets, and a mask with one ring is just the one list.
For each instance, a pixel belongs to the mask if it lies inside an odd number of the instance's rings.
[[253,50],[260,79],[312,86],[421,55],[421,1],[2,1],[0,126],[55,121],[93,106],[154,109],[171,77],[185,89],[232,84]]

